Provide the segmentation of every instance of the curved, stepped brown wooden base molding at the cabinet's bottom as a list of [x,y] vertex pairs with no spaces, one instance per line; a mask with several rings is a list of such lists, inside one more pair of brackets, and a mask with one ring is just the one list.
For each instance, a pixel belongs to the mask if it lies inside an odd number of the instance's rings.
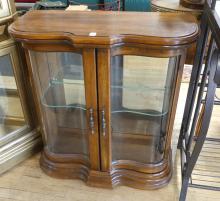
[[137,189],[157,189],[167,185],[172,177],[171,154],[165,168],[157,173],[143,173],[134,170],[113,169],[111,172],[91,170],[86,160],[79,161],[43,151],[40,159],[42,170],[49,176],[62,179],[81,179],[87,185],[114,188],[125,185]]

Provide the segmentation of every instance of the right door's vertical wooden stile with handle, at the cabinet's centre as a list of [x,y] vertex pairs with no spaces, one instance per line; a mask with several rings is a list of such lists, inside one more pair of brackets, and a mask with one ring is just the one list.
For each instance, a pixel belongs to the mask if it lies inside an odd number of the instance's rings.
[[111,170],[110,49],[98,50],[98,101],[101,171]]

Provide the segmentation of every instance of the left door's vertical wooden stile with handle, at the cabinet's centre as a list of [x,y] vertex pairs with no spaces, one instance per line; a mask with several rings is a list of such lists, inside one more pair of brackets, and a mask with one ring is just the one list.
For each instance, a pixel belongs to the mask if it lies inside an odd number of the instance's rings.
[[83,66],[87,120],[89,125],[89,156],[92,170],[100,170],[98,106],[95,49],[83,49]]

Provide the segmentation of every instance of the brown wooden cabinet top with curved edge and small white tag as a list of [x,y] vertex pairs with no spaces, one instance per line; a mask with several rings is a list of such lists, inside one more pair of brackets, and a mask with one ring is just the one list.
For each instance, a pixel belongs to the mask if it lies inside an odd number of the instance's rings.
[[199,28],[184,13],[30,11],[10,27],[18,40],[68,40],[73,44],[138,43],[173,46],[192,43]]

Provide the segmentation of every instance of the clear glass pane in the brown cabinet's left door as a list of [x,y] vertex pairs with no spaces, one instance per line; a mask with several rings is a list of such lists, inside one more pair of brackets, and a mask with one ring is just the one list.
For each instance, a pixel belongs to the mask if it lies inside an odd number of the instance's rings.
[[88,154],[82,56],[30,52],[47,145],[54,153]]

